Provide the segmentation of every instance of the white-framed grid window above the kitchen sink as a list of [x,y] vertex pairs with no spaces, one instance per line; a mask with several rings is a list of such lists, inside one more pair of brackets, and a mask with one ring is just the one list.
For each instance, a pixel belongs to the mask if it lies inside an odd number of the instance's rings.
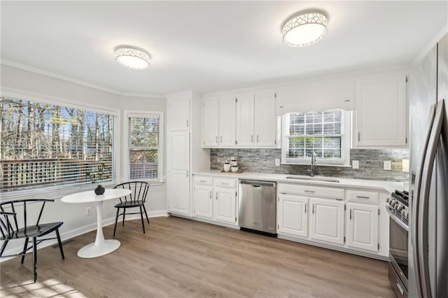
[[283,116],[284,163],[309,164],[313,153],[321,164],[349,164],[350,112],[289,113]]

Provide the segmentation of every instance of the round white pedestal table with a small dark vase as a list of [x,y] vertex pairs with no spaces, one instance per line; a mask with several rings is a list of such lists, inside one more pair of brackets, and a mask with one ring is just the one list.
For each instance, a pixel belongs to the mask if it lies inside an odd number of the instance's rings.
[[94,243],[87,244],[80,250],[78,250],[78,257],[100,257],[112,253],[120,247],[120,241],[115,239],[104,239],[103,234],[103,204],[104,201],[111,199],[118,199],[119,197],[125,197],[130,194],[131,190],[123,189],[106,189],[104,194],[95,194],[93,190],[87,190],[86,192],[77,192],[70,194],[61,199],[64,203],[69,204],[87,204],[94,203],[97,208],[97,237]]

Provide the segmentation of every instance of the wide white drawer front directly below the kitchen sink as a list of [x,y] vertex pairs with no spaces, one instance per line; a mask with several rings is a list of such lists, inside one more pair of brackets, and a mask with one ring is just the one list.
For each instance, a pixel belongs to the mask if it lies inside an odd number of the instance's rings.
[[279,192],[281,194],[299,194],[313,197],[328,197],[339,200],[344,199],[344,189],[336,187],[319,187],[311,185],[279,183]]

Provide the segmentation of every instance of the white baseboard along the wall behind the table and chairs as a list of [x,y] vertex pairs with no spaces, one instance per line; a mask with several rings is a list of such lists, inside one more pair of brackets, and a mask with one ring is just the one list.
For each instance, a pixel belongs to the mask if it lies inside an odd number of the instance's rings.
[[[168,213],[166,210],[160,210],[160,211],[150,211],[148,212],[148,217],[149,218],[158,218],[161,216],[168,216]],[[127,215],[126,220],[137,220],[140,218],[139,214],[132,214],[132,215]],[[112,218],[106,218],[103,220],[103,227],[106,227],[108,225],[113,225],[115,223],[115,216]],[[74,238],[76,236],[80,236],[82,234],[88,233],[88,232],[92,232],[94,230],[97,229],[97,222],[93,222],[89,225],[85,225],[83,227],[78,227],[76,229],[71,229],[70,231],[66,231],[64,233],[61,233],[61,240],[62,241],[67,241],[71,238]],[[51,236],[50,236],[51,237]],[[11,246],[11,244],[13,244],[13,242],[15,243],[20,243],[20,245],[15,245],[15,246]],[[22,249],[23,249],[23,241],[10,241],[10,243],[8,243],[9,248],[6,249],[3,253],[3,255],[14,255],[17,253],[21,253]],[[41,244],[38,245],[38,249],[41,248],[45,248],[47,246],[53,246],[57,244],[57,239],[52,239],[49,241],[44,241]],[[8,247],[7,246],[7,247]],[[13,257],[1,257],[0,258],[0,262],[5,262],[7,260],[12,259]]]

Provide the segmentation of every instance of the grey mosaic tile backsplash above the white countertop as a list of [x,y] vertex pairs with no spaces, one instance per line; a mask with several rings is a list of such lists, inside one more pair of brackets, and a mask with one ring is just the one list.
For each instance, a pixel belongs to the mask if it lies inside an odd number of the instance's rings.
[[[210,168],[222,170],[226,159],[235,156],[240,169],[255,173],[284,173],[308,175],[309,165],[281,164],[275,166],[274,159],[281,158],[281,149],[210,149]],[[407,149],[352,149],[350,160],[359,161],[359,169],[343,166],[318,166],[316,175],[369,180],[405,182],[408,173],[402,172],[402,159],[409,158]],[[391,170],[383,169],[383,162],[391,161]]]

